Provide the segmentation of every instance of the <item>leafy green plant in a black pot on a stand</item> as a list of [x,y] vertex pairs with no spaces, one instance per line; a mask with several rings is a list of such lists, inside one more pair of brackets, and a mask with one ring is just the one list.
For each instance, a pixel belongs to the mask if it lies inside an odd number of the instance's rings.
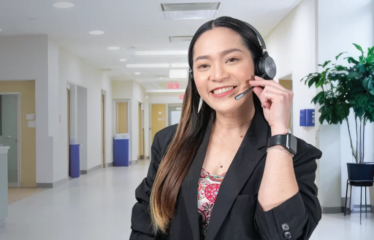
[[[323,65],[322,72],[314,72],[305,76],[301,81],[309,87],[315,85],[321,91],[313,98],[312,102],[320,105],[318,110],[321,113],[319,122],[326,121],[328,124],[340,124],[346,120],[348,126],[351,150],[355,163],[347,163],[348,178],[350,180],[373,180],[374,164],[364,163],[365,150],[365,125],[374,121],[374,47],[368,48],[364,54],[362,48],[354,44],[361,52],[358,60],[348,56],[346,66],[337,65],[330,60]],[[339,53],[335,59],[347,52]],[[352,141],[348,120],[351,109],[355,116],[355,144]],[[373,157],[373,156],[371,156]],[[371,159],[372,160],[372,159]],[[359,185],[359,184],[358,184]],[[373,183],[366,183],[362,186],[373,186]]]

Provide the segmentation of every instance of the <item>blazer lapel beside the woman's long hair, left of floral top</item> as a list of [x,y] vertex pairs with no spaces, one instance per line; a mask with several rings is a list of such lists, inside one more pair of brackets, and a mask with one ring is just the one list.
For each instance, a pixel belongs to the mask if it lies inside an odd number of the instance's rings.
[[208,148],[212,121],[213,120],[208,124],[203,141],[192,161],[190,170],[182,183],[183,199],[185,201],[188,221],[191,226],[194,240],[200,240],[199,215],[197,211],[197,188],[206,150]]

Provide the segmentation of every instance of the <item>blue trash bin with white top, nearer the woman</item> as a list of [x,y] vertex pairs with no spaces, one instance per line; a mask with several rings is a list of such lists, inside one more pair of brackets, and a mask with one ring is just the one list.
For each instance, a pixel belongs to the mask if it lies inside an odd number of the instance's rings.
[[128,133],[116,134],[113,139],[113,166],[129,166],[129,140]]

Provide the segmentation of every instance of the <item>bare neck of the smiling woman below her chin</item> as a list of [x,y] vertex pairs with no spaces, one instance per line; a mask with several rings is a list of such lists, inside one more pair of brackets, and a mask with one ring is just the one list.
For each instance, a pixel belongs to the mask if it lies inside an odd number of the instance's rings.
[[243,134],[249,128],[253,117],[255,116],[255,106],[253,97],[249,96],[245,102],[235,111],[228,113],[216,112],[216,119],[213,130],[216,133]]

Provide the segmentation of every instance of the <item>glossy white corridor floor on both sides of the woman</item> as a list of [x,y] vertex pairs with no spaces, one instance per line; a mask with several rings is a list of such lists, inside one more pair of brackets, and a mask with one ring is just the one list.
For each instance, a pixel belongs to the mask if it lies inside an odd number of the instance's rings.
[[[0,240],[126,240],[134,191],[149,161],[108,168],[8,206]],[[374,214],[323,215],[311,240],[373,240]]]

